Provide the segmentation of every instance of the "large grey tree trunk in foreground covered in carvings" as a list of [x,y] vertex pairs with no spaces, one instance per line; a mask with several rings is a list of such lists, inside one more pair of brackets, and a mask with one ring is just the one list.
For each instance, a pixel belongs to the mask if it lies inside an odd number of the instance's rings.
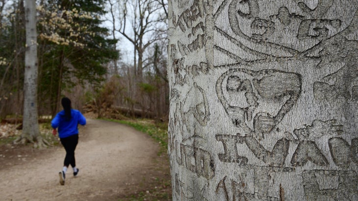
[[170,1],[173,200],[358,200],[357,8]]

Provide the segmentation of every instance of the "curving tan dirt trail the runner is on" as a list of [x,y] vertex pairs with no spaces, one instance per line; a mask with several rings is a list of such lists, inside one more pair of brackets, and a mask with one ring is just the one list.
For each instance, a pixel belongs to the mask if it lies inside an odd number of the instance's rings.
[[40,151],[39,156],[23,153],[25,160],[19,159],[17,164],[2,161],[6,167],[0,168],[0,200],[118,200],[154,177],[158,149],[149,136],[130,127],[87,119],[79,131],[76,163],[80,171],[76,178],[70,167],[65,185],[59,184],[65,156],[62,147]]

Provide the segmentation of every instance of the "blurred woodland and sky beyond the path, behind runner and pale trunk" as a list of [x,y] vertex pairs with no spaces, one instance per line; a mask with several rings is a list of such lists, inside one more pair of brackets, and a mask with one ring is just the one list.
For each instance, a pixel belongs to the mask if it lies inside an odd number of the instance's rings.
[[[99,117],[166,120],[167,2],[37,0],[38,114],[68,96]],[[21,118],[25,71],[24,0],[0,0],[0,119]]]

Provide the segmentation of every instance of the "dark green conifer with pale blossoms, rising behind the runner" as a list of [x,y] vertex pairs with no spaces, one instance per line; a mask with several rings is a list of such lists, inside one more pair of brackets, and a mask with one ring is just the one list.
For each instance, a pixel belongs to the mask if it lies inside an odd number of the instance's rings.
[[103,0],[75,0],[49,1],[38,7],[44,72],[39,89],[44,102],[50,100],[52,115],[60,110],[63,89],[85,82],[98,87],[105,65],[118,58],[117,40],[108,39],[108,29],[101,26],[103,6]]

